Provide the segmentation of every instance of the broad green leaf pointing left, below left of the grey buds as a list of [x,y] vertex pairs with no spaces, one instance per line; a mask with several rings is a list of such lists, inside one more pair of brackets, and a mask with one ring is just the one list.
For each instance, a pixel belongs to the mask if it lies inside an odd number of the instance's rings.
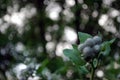
[[67,56],[76,66],[85,64],[84,60],[81,59],[78,51],[74,49],[63,50],[65,56]]

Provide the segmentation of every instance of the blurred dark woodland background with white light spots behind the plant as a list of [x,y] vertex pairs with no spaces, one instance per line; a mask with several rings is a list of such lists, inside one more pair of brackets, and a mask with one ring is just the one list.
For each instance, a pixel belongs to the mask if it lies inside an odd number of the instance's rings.
[[63,54],[79,31],[117,38],[95,80],[120,80],[120,0],[0,0],[0,80],[89,80]]

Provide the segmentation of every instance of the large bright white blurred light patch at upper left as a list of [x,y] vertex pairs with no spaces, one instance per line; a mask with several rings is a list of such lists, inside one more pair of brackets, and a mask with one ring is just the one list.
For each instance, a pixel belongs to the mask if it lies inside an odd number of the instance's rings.
[[[18,12],[18,5],[13,5],[13,7],[7,8],[8,14],[3,16],[3,20],[6,21],[7,24],[13,24],[14,27],[17,29],[19,34],[22,34],[24,29],[25,23],[28,21],[27,19],[32,18],[36,14],[36,8],[32,5],[26,5],[25,7],[21,8]],[[8,25],[8,26],[9,26]],[[4,33],[4,29],[1,30]]]

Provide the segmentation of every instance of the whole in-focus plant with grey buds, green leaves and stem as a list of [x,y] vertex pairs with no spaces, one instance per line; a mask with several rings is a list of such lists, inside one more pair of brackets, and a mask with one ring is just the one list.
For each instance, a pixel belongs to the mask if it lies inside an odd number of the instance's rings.
[[[73,49],[65,49],[63,52],[74,64],[80,74],[91,74],[90,80],[94,80],[95,70],[100,65],[102,57],[107,57],[111,51],[110,45],[115,41],[102,41],[102,36],[91,36],[78,32],[80,44],[73,45]],[[102,56],[102,57],[101,57]],[[90,70],[86,65],[89,64]]]

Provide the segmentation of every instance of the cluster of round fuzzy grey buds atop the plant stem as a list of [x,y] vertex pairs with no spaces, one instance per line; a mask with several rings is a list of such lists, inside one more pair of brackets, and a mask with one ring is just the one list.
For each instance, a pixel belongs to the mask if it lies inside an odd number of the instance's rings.
[[94,36],[93,38],[88,38],[84,43],[78,45],[78,50],[83,53],[84,59],[89,61],[98,55],[101,43],[102,38]]

